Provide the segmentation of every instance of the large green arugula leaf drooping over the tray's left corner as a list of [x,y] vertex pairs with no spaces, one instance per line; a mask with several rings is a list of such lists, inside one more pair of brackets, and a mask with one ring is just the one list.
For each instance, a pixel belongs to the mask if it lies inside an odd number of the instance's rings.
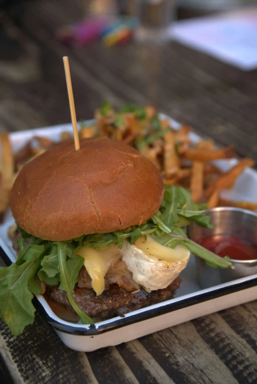
[[37,245],[31,246],[24,254],[23,264],[13,263],[0,268],[0,317],[15,336],[21,334],[27,325],[33,324],[35,308],[29,288],[38,292],[38,286],[32,283],[32,279],[44,252],[45,247],[40,252]]

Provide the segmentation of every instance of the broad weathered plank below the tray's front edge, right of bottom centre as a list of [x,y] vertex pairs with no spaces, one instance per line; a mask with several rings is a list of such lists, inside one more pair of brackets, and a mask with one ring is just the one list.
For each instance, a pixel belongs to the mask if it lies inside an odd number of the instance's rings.
[[143,337],[140,342],[175,382],[237,383],[191,322]]

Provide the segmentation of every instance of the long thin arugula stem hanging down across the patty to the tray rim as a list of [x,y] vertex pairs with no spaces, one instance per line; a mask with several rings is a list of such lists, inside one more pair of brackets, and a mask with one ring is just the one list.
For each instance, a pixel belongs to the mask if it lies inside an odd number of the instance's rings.
[[78,315],[81,317],[82,323],[94,324],[93,320],[90,319],[90,317],[83,312],[83,310],[79,307],[79,305],[75,302],[73,298],[72,291],[74,286],[72,286],[73,281],[71,277],[71,271],[68,270],[68,266],[66,262],[66,249],[67,249],[67,243],[64,243],[64,242],[57,243],[58,265],[60,270],[61,284],[63,287],[65,287],[65,291],[67,292],[69,302],[73,307],[73,309],[75,310],[75,312],[77,312]]

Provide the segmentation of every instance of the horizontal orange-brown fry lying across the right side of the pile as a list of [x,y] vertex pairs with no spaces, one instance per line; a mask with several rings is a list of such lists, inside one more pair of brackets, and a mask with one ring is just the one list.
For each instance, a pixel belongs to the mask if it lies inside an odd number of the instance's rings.
[[231,159],[236,157],[236,153],[233,145],[214,149],[213,151],[190,148],[183,154],[183,157],[192,161],[208,162],[218,159]]

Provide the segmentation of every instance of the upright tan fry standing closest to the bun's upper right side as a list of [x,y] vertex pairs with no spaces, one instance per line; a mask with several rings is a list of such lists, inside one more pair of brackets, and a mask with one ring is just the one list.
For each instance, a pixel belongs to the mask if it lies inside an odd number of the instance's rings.
[[171,178],[179,170],[180,164],[175,148],[175,137],[172,131],[164,136],[164,171],[167,178]]

